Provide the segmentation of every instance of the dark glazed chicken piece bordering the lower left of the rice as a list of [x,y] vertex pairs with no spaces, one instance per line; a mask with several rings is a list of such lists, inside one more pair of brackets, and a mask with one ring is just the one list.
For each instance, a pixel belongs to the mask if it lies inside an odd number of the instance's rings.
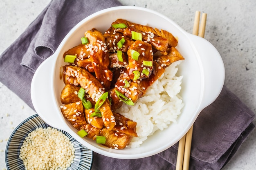
[[135,121],[132,121],[123,115],[120,115],[119,113],[113,113],[115,116],[116,126],[113,128],[113,130],[116,130],[117,132],[125,133],[126,135],[131,135],[134,137],[137,137],[136,132],[136,125],[137,123]]

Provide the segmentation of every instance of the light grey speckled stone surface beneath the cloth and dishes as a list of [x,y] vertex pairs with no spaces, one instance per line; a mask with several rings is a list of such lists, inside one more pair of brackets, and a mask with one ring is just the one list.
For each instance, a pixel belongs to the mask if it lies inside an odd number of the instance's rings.
[[[0,53],[46,7],[50,0],[0,0]],[[158,11],[192,32],[195,11],[207,13],[205,39],[218,49],[225,64],[225,85],[256,113],[256,1],[255,0],[120,0]],[[10,68],[11,69],[11,68]],[[35,112],[0,83],[0,170],[13,129]],[[254,120],[256,124],[256,120]],[[256,130],[223,170],[256,167]]]

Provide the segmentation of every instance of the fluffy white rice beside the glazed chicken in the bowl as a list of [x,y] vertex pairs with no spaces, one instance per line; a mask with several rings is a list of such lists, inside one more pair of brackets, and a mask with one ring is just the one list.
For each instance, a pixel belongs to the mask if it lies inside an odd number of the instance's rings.
[[169,124],[176,123],[184,106],[181,97],[181,83],[183,76],[176,76],[177,61],[168,66],[165,73],[148,88],[134,106],[123,104],[117,113],[137,122],[137,135],[130,142],[131,148],[137,148],[148,136],[157,130],[167,128]]

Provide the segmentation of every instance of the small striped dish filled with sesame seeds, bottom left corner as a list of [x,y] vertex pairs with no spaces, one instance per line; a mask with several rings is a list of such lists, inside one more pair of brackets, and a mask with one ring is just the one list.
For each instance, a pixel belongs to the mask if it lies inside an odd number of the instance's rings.
[[67,132],[49,126],[38,115],[16,127],[5,155],[8,170],[90,170],[93,159],[92,150]]

